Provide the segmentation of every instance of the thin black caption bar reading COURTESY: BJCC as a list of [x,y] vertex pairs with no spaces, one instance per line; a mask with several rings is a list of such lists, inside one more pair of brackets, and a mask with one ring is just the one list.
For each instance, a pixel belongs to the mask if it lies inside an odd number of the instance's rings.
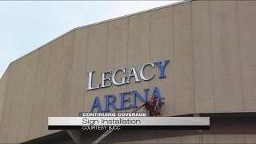
[[[48,130],[102,130],[100,126],[48,126]],[[210,130],[210,126],[106,126],[103,130]]]

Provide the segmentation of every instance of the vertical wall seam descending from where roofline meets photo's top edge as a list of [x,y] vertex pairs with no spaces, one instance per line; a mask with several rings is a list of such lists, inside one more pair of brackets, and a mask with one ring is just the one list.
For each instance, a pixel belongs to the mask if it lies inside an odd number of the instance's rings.
[[195,96],[195,86],[194,86],[194,38],[193,38],[193,34],[194,34],[194,29],[193,29],[193,1],[191,1],[191,43],[192,43],[192,65],[193,65],[193,92],[194,92],[194,113],[196,113],[196,96]]

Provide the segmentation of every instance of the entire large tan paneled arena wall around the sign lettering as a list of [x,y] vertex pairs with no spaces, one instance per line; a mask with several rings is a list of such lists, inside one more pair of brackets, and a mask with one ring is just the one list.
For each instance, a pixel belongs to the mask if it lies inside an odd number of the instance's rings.
[[[166,98],[162,115],[255,112],[255,13],[254,1],[193,1],[70,31],[3,74],[0,142],[52,134],[48,116],[89,111],[96,95],[104,106],[105,94],[118,102],[122,91],[154,86]],[[98,83],[102,71],[166,59],[166,78],[86,91],[88,71]]]

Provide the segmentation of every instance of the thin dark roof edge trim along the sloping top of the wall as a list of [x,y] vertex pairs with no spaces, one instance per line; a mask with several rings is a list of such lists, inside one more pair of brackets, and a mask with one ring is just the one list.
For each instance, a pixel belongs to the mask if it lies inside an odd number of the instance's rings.
[[[67,31],[67,32],[64,33],[64,34],[59,35],[57,38],[54,38],[54,39],[50,40],[49,42],[46,42],[46,43],[43,44],[42,46],[39,46],[39,47],[36,48],[35,50],[32,50],[32,51],[30,51],[29,53],[24,54],[24,55],[22,55],[22,56],[19,57],[19,58],[16,58],[14,61],[10,62],[10,64],[12,64],[12,63],[18,61],[19,59],[21,59],[21,58],[23,58],[23,57],[26,57],[26,55],[29,55],[29,54],[33,53],[34,51],[36,51],[36,50],[39,50],[39,49],[42,48],[43,46],[46,46],[46,45],[50,44],[51,42],[54,42],[56,39],[61,38],[62,36],[66,35],[66,34],[69,34],[70,32],[72,32],[72,31],[74,31],[74,30],[82,29],[82,28],[89,27],[89,26],[99,25],[99,24],[102,24],[102,23],[104,23],[104,22],[111,22],[111,21],[118,20],[118,19],[121,19],[121,18],[129,18],[129,17],[134,16],[134,15],[143,14],[143,13],[148,13],[148,12],[153,11],[153,10],[160,10],[160,9],[163,9],[163,8],[166,8],[166,7],[176,6],[176,5],[179,5],[179,4],[182,4],[182,3],[186,3],[186,2],[191,2],[191,1],[194,1],[194,0],[182,0],[182,2],[176,2],[176,3],[172,3],[172,4],[169,4],[169,5],[165,5],[165,6],[158,6],[158,7],[149,9],[149,10],[143,10],[143,11],[139,11],[139,12],[133,13],[133,14],[126,14],[126,15],[124,15],[124,16],[120,16],[120,17],[117,17],[117,18],[110,18],[110,19],[106,19],[106,20],[101,21],[101,22],[94,22],[94,23],[91,23],[91,24],[88,24],[88,25],[85,25],[85,26],[78,26],[78,27],[75,27],[75,28],[73,28],[73,29]],[[10,64],[9,64],[9,66],[10,66]],[[7,67],[9,67],[9,66],[7,66]]]

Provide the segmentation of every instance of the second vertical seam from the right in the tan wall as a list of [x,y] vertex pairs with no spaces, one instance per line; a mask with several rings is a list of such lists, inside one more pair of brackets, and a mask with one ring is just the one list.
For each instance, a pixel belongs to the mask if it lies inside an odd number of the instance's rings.
[[215,110],[215,89],[214,89],[214,56],[213,56],[213,46],[212,46],[212,26],[211,26],[211,14],[210,14],[210,1],[209,3],[209,22],[210,22],[210,54],[211,54],[211,72],[212,72],[212,77],[213,77],[213,94],[214,94],[214,112]]

